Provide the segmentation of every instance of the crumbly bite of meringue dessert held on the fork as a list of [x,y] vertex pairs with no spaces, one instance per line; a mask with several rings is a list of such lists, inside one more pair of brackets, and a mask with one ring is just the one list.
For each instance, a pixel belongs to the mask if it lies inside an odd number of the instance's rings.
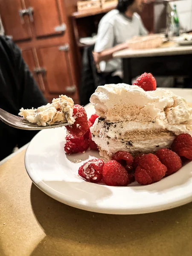
[[55,122],[68,122],[72,125],[75,122],[73,118],[73,99],[66,95],[61,95],[53,99],[52,103],[45,106],[32,109],[20,109],[20,116],[23,116],[28,122],[38,125],[52,125]]

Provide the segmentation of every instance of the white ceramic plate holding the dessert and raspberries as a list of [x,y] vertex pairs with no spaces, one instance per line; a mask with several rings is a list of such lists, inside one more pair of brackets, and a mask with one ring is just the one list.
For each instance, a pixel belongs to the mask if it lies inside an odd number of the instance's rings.
[[[87,105],[88,116],[94,112]],[[39,189],[70,206],[102,213],[138,214],[177,207],[192,201],[192,163],[163,180],[140,186],[105,186],[89,183],[78,176],[84,161],[99,157],[95,151],[67,156],[64,152],[65,128],[39,132],[25,155],[26,170]],[[81,163],[74,163],[82,159]]]

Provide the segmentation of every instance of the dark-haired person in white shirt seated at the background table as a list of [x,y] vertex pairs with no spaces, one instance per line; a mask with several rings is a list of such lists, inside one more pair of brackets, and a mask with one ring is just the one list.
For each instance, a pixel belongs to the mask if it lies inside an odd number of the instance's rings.
[[128,48],[127,41],[134,36],[147,35],[140,16],[146,0],[118,0],[115,10],[108,12],[100,21],[93,52],[99,64],[104,84],[122,82],[122,61],[112,59],[114,52]]

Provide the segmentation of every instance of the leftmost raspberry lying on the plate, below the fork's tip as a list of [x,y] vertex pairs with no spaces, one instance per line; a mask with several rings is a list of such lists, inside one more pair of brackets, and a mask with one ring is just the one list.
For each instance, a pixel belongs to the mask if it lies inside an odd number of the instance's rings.
[[64,150],[67,154],[75,154],[86,151],[89,148],[89,141],[84,137],[74,137],[72,134],[67,135]]

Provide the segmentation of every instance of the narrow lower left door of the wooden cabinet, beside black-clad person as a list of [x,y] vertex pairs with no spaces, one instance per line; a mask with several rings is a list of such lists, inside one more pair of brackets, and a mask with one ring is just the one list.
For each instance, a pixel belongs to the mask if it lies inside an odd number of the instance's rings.
[[22,50],[22,56],[24,61],[28,65],[29,70],[33,74],[33,77],[36,80],[39,88],[44,93],[45,87],[44,87],[42,74],[34,72],[35,69],[39,68],[36,50],[35,49]]

